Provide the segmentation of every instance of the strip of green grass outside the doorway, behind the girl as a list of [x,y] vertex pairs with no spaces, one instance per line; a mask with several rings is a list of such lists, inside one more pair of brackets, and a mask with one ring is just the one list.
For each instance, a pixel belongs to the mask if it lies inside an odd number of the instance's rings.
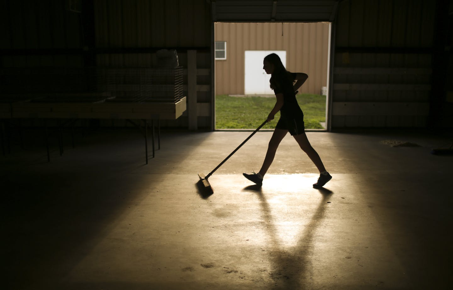
[[[326,121],[326,96],[299,94],[296,96],[300,108],[304,112],[306,129],[323,129],[319,122]],[[258,128],[265,121],[275,105],[275,97],[231,97],[216,96],[216,128],[217,129],[252,129]],[[280,118],[265,124],[263,128],[274,129]]]

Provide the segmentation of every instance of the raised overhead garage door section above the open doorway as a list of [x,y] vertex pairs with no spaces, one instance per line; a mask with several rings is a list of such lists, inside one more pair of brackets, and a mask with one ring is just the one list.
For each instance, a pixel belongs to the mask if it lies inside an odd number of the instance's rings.
[[212,20],[225,22],[332,22],[340,1],[211,0]]

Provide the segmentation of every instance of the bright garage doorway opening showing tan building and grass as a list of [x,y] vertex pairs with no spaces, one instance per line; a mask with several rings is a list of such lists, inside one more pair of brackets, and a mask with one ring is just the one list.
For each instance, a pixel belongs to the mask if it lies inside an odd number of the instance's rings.
[[[254,129],[275,105],[263,58],[274,52],[308,80],[296,96],[306,129],[326,128],[330,23],[214,23],[215,128]],[[280,114],[280,113],[279,113]],[[264,128],[273,129],[276,120]]]

